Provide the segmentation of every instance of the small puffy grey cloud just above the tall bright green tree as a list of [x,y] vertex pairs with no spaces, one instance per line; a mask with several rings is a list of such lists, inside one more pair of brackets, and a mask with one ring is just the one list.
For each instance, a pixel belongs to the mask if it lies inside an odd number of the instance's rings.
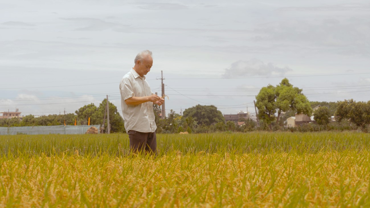
[[230,68],[225,69],[223,78],[246,77],[246,76],[271,76],[272,74],[283,75],[291,71],[289,67],[277,67],[272,63],[263,63],[263,61],[253,58],[249,61],[236,61]]

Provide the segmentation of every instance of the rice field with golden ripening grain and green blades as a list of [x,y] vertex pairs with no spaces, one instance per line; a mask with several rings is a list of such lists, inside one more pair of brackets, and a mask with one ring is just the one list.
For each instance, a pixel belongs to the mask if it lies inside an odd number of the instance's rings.
[[0,207],[370,207],[358,132],[0,136]]

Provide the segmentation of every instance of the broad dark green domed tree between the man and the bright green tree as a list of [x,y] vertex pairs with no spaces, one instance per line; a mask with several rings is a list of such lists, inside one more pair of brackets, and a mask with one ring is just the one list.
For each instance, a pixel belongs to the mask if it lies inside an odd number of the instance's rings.
[[184,111],[183,117],[193,117],[198,124],[211,125],[219,122],[225,123],[225,118],[221,111],[217,110],[217,107],[214,105],[196,105],[188,108]]

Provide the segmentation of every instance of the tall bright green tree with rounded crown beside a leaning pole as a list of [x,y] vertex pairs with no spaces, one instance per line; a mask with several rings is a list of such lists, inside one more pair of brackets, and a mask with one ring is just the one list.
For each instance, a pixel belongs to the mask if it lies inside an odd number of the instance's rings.
[[282,112],[295,110],[298,114],[308,116],[312,114],[312,108],[302,89],[293,87],[287,78],[284,78],[276,87],[270,84],[262,87],[256,96],[256,107],[259,119],[268,124],[270,129],[273,121],[276,120],[276,124],[279,124]]

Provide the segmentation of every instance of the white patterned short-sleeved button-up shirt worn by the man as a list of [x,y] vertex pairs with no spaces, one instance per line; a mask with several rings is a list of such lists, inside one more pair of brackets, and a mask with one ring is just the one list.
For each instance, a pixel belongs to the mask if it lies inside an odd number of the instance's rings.
[[145,76],[140,77],[132,68],[131,71],[122,78],[120,83],[121,107],[125,120],[125,130],[135,130],[139,132],[155,132],[157,125],[153,112],[153,103],[146,102],[138,105],[127,105],[125,100],[130,97],[144,97],[152,95],[150,86],[145,80]]

